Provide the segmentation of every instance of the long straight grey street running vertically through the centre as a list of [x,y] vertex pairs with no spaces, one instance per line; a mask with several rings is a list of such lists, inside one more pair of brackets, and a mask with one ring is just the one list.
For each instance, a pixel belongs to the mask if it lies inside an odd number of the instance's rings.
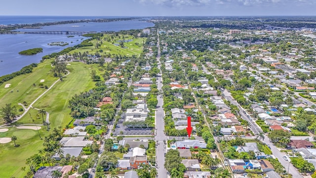
[[[160,70],[160,45],[159,45],[159,35],[158,35],[158,55],[157,55],[157,61],[158,61],[158,68]],[[160,70],[161,74],[161,70]],[[160,75],[161,76],[161,75]],[[162,91],[162,78],[157,77],[157,89],[159,91]],[[158,172],[158,178],[167,178],[167,170],[164,168],[164,153],[166,153],[166,149],[163,148],[164,140],[167,141],[167,136],[164,134],[164,111],[162,108],[163,105],[163,98],[162,95],[157,95],[158,104],[157,104],[157,110],[156,110],[156,136],[155,140],[157,143],[157,149],[156,149],[156,165],[157,165],[157,172]]]

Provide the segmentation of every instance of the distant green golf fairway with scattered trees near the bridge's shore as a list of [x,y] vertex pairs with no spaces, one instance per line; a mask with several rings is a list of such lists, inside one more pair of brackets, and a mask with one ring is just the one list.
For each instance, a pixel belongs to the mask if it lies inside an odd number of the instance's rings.
[[[108,35],[104,35],[103,38],[107,38]],[[137,55],[139,56],[140,53],[143,51],[143,41],[146,40],[146,38],[134,38],[133,36],[130,35],[125,35],[125,41],[126,40],[132,40],[131,42],[126,42],[124,43],[124,48],[115,45],[119,44],[119,40],[122,40],[122,38],[115,37],[112,42],[108,42],[106,40],[102,40],[103,44],[99,48],[95,48],[95,45],[97,43],[100,43],[101,41],[97,40],[92,40],[90,43],[93,44],[93,46],[85,46],[85,47],[80,47],[79,49],[75,49],[71,51],[71,53],[74,52],[85,52],[88,51],[90,54],[95,53],[98,51],[101,55],[103,54],[120,54],[120,55],[126,55],[126,56],[132,56],[132,55]],[[103,52],[100,52],[100,49],[103,50]]]

